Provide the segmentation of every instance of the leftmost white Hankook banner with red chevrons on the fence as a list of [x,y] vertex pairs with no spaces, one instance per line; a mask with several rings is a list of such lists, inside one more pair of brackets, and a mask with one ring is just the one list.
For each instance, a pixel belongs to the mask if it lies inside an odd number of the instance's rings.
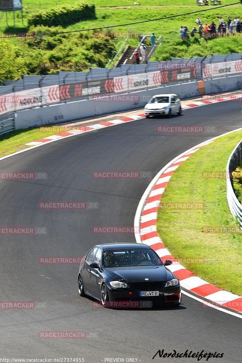
[[0,115],[60,102],[59,86],[46,86],[0,96]]

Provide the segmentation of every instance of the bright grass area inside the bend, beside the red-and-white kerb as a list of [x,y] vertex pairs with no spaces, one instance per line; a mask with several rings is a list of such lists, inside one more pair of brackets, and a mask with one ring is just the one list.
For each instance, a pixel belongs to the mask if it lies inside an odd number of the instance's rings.
[[242,234],[206,233],[204,226],[236,226],[226,197],[226,179],[205,179],[202,172],[225,171],[242,131],[223,136],[196,151],[172,175],[162,203],[199,202],[203,209],[159,209],[157,231],[175,258],[202,258],[186,268],[205,281],[242,295]]

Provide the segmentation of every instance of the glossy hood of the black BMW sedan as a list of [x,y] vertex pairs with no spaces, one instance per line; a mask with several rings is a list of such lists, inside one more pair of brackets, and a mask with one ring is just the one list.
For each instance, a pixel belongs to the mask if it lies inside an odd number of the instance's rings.
[[174,275],[161,266],[127,266],[127,267],[110,267],[105,268],[108,277],[105,281],[115,281],[123,279],[126,282],[142,282],[148,278],[153,281],[169,281],[174,278]]

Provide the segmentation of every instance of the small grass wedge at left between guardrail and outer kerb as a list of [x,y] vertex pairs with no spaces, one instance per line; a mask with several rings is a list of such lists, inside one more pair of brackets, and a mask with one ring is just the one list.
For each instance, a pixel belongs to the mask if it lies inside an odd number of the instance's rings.
[[[49,129],[49,127],[47,128]],[[41,129],[38,128],[16,130],[0,136],[0,157],[31,147],[25,145],[28,142],[39,140],[46,136],[58,134],[58,132],[55,132],[52,129],[49,129],[50,131],[40,130]]]

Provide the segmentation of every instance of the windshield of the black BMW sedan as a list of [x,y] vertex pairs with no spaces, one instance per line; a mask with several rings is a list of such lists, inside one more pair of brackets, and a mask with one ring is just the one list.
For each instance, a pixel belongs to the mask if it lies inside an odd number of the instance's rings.
[[104,251],[104,267],[163,265],[152,249],[115,249]]

